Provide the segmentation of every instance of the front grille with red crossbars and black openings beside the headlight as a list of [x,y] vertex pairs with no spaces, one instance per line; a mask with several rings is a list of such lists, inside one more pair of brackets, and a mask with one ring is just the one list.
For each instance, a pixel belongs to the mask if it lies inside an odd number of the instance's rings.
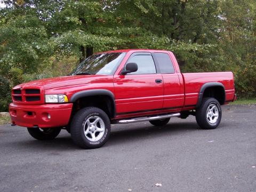
[[[39,89],[13,89],[13,101],[18,102],[36,102],[41,101],[41,90]],[[38,103],[38,102],[37,102]]]

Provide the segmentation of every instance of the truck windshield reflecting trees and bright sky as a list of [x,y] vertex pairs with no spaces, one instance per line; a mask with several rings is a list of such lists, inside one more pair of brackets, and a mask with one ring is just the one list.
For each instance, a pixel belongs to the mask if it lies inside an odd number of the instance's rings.
[[101,53],[82,61],[70,75],[114,75],[125,53]]

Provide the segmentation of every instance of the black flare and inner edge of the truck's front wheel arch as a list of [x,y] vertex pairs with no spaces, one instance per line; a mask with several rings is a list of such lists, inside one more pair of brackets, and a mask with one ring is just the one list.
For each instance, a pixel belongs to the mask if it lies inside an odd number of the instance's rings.
[[116,116],[116,105],[115,105],[115,95],[113,92],[105,89],[95,89],[95,90],[85,90],[85,91],[79,91],[75,94],[73,94],[70,98],[70,102],[77,102],[79,99],[83,98],[107,98],[107,101],[109,103],[106,103],[109,117],[114,118]]

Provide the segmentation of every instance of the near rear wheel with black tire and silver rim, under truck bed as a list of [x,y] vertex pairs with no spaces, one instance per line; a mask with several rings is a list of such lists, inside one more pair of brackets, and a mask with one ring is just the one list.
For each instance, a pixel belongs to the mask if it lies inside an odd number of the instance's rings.
[[[214,107],[215,106],[215,107]],[[207,117],[207,109],[213,110],[211,117]],[[217,115],[218,110],[218,117]],[[219,126],[221,121],[222,111],[218,100],[214,98],[204,98],[201,106],[196,109],[196,122],[202,128],[206,130],[215,129]],[[212,122],[210,122],[212,121]]]

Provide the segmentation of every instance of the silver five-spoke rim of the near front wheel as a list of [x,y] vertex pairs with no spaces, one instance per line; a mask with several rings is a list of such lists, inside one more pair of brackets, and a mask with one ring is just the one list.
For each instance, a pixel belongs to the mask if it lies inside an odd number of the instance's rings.
[[105,133],[105,124],[99,116],[91,116],[84,123],[84,135],[92,142],[99,141]]

